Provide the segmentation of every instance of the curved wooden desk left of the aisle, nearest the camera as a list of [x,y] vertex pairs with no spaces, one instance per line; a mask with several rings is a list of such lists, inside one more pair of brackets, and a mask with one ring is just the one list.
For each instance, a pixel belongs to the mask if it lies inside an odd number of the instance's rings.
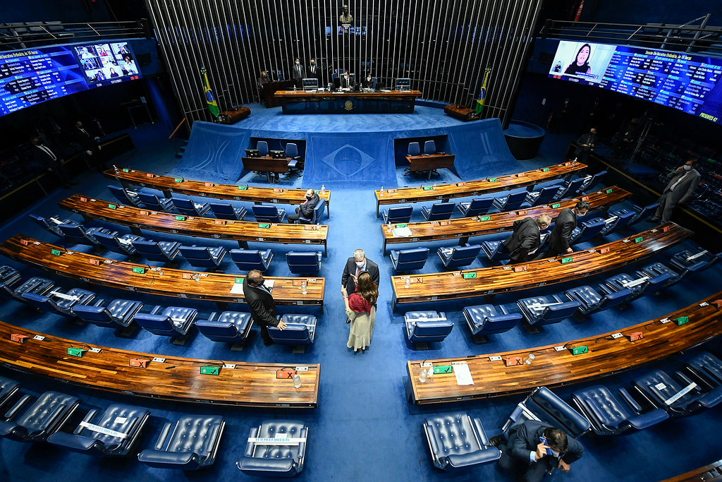
[[[27,335],[25,343],[10,340],[13,334]],[[35,337],[43,337],[38,340]],[[67,349],[87,351],[82,358]],[[164,362],[152,361],[165,358]],[[147,368],[130,366],[131,359],[147,361]],[[9,368],[71,382],[108,392],[160,398],[175,402],[212,403],[264,408],[315,408],[321,365],[298,363],[308,371],[297,371],[301,387],[292,379],[277,379],[276,371],[288,363],[244,363],[221,368],[223,361],[199,360],[89,345],[0,322],[0,363]],[[218,375],[201,374],[201,366],[220,368]],[[291,365],[296,366],[295,364]]]

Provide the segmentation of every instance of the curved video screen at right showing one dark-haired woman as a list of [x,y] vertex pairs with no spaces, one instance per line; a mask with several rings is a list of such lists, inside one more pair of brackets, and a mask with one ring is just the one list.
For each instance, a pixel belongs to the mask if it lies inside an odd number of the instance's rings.
[[561,40],[549,77],[622,92],[722,124],[722,59]]

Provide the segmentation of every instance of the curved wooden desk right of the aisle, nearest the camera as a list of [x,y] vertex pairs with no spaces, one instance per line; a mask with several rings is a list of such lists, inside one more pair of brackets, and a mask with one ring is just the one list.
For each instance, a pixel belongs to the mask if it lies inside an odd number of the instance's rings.
[[[451,365],[453,362],[468,363],[474,379],[473,385],[458,385],[454,374],[435,374],[427,382],[420,383],[422,361],[408,361],[406,395],[410,402],[422,405],[527,393],[539,385],[559,387],[591,382],[600,376],[636,368],[721,335],[720,298],[722,291],[666,317],[625,328],[620,331],[625,336],[617,339],[612,338],[614,332],[609,332],[567,342],[560,345],[564,347],[560,351],[555,350],[554,345],[547,345],[484,356],[427,360],[434,366]],[[719,301],[720,306],[713,301]],[[679,317],[690,317],[690,321],[677,326],[674,320]],[[663,323],[662,319],[672,321]],[[644,337],[630,342],[627,335],[633,332],[642,332]],[[571,349],[580,346],[587,346],[588,353],[573,355]],[[531,365],[521,362],[521,365],[506,366],[505,358],[521,357],[524,360],[529,353],[534,353],[536,357]],[[491,356],[501,356],[502,361],[490,361]]]

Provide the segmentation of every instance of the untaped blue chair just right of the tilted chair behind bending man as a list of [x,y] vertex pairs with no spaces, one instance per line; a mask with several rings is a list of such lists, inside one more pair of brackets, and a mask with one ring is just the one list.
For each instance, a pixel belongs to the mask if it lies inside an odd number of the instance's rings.
[[617,435],[629,429],[643,430],[669,418],[661,408],[642,413],[642,407],[620,388],[624,403],[604,385],[594,385],[572,394],[572,401],[591,423],[597,435]]

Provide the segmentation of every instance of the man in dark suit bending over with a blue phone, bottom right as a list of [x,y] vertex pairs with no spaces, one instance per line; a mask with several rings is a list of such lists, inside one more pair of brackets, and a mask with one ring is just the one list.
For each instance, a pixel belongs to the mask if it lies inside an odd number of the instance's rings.
[[[546,443],[541,439],[546,439]],[[567,436],[562,429],[547,423],[528,420],[513,426],[509,430],[509,441],[502,436],[494,436],[490,444],[498,447],[502,454],[499,468],[518,470],[522,480],[538,482],[544,475],[559,468],[569,472],[571,464],[584,455],[584,447],[575,439]],[[551,454],[547,452],[551,450]]]

